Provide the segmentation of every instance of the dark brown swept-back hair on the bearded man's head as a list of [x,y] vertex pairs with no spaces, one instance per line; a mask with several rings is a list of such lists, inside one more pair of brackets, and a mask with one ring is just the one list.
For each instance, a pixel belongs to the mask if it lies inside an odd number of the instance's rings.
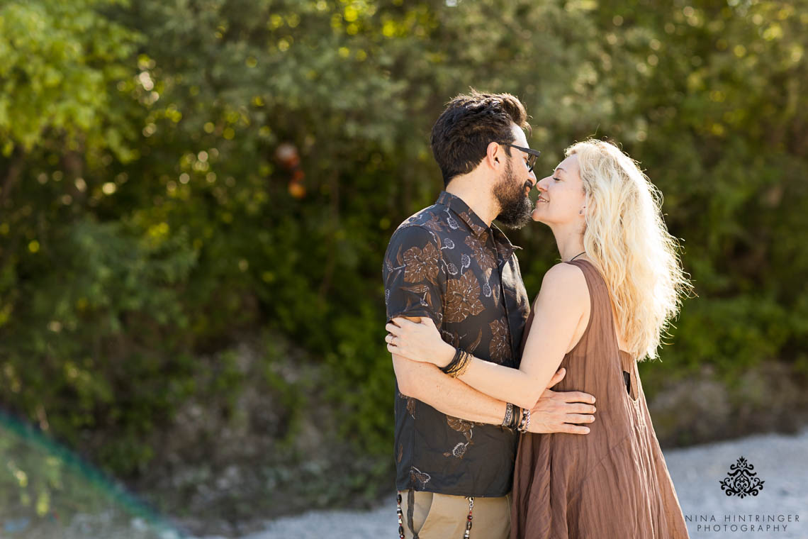
[[[444,186],[473,171],[491,142],[513,142],[512,124],[530,128],[524,105],[511,94],[481,94],[472,88],[469,95],[449,101],[432,126],[430,140]],[[510,148],[505,151],[511,155]]]

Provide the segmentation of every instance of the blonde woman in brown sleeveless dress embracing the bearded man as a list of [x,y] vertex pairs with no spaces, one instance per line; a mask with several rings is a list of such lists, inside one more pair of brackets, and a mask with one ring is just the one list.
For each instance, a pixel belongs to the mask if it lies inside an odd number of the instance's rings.
[[389,347],[528,411],[558,368],[566,377],[553,389],[595,396],[587,436],[520,437],[511,537],[688,537],[637,371],[690,288],[662,197],[636,162],[597,140],[570,146],[537,189],[532,218],[552,229],[563,262],[542,281],[520,367],[457,352],[428,319],[394,319]]

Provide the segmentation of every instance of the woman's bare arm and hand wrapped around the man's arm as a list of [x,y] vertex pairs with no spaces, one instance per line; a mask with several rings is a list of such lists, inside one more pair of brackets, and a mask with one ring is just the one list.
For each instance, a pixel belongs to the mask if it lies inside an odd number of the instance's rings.
[[[587,281],[579,267],[565,263],[551,267],[542,280],[533,307],[533,324],[520,368],[509,368],[475,357],[459,379],[490,397],[532,408],[558,370],[564,355],[574,345],[575,330],[587,314],[588,305]],[[444,343],[437,331],[427,339],[423,327],[418,330],[405,325],[405,328],[412,332],[402,331],[393,324],[388,326],[391,334],[402,337],[398,343],[393,339],[389,344],[391,352],[439,367],[445,367],[452,360],[454,347]],[[416,331],[420,333],[416,335]]]

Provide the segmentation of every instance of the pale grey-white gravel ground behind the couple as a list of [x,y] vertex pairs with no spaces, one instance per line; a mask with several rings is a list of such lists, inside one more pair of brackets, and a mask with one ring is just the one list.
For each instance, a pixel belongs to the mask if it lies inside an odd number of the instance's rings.
[[[725,495],[719,481],[742,456],[755,466],[764,488],[757,496],[740,499]],[[665,458],[693,539],[808,539],[808,428],[797,436],[750,436],[669,449]],[[782,515],[786,521],[755,524],[755,516],[769,515]],[[787,521],[789,515],[791,522]],[[741,521],[744,517],[746,522]],[[754,531],[748,528],[750,524],[755,524]],[[736,528],[731,528],[733,525]],[[760,525],[762,531],[757,528]],[[780,526],[779,530],[773,528],[775,525]],[[263,532],[241,539],[396,539],[397,528],[391,496],[372,511],[308,512],[268,522]]]

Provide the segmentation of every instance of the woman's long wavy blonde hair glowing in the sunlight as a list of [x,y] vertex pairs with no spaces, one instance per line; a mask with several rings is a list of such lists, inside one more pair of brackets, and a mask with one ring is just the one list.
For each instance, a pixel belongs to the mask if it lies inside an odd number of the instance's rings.
[[662,335],[692,284],[680,246],[667,231],[662,193],[617,146],[587,140],[571,145],[587,196],[583,246],[604,276],[616,330],[637,360],[657,357]]

